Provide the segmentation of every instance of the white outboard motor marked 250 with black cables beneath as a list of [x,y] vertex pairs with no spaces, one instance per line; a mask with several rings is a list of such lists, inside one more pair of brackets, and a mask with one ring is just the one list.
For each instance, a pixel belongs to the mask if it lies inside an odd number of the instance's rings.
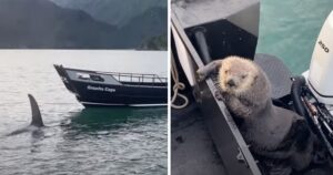
[[333,11],[316,40],[310,70],[293,80],[295,111],[306,117],[333,157]]

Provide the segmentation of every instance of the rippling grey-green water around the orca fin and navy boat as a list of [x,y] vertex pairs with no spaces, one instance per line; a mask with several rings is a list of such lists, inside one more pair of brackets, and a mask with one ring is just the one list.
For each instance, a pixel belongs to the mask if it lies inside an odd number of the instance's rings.
[[[52,64],[97,71],[168,72],[167,52],[0,51],[0,174],[167,174],[168,110],[84,109]],[[47,127],[29,125],[27,93]]]

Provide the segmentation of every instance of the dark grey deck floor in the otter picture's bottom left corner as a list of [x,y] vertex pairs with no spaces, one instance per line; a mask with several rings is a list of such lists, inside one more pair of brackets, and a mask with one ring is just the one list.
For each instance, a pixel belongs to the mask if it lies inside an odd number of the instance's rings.
[[195,103],[172,110],[171,122],[171,174],[226,174]]

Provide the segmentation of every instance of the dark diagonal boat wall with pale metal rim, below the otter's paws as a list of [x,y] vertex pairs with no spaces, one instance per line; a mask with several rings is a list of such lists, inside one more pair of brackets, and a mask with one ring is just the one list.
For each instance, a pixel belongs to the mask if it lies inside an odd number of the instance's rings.
[[[209,81],[212,82],[212,80]],[[211,85],[213,85],[213,83],[211,83]],[[201,94],[199,100],[200,109],[204,113],[209,131],[228,173],[230,175],[261,174],[225,105],[223,102],[215,100],[213,94],[215,87],[211,87],[206,82],[203,82],[198,90],[199,92],[195,93]],[[240,155],[243,157],[241,156],[240,158]]]

